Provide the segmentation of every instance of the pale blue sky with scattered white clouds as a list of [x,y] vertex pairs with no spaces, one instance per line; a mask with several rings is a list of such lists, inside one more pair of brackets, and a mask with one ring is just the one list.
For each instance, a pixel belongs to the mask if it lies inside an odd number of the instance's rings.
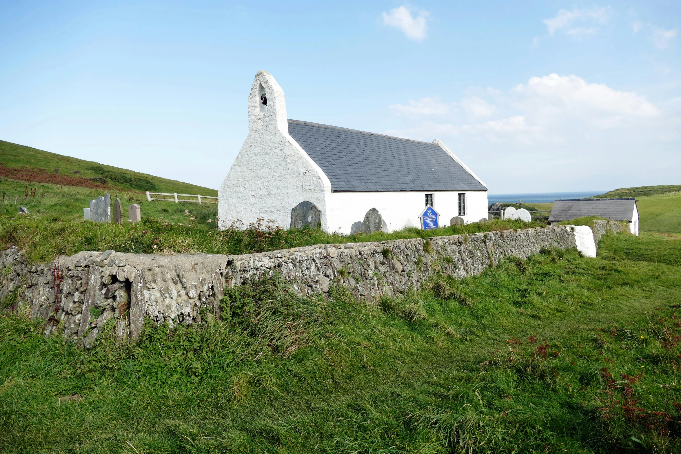
[[0,0],[0,140],[217,189],[289,118],[442,140],[494,193],[681,181],[681,2]]

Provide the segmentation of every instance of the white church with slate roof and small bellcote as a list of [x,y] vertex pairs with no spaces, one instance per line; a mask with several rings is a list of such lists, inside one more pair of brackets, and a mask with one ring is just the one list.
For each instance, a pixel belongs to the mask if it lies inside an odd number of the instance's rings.
[[300,227],[291,225],[300,207],[312,207],[316,216],[306,220],[329,233],[361,230],[373,209],[383,231],[423,228],[427,206],[442,227],[454,216],[479,221],[488,215],[487,187],[437,139],[289,120],[281,87],[258,71],[249,94],[249,135],[219,189],[221,229],[237,220],[237,227],[248,227],[258,218]]

